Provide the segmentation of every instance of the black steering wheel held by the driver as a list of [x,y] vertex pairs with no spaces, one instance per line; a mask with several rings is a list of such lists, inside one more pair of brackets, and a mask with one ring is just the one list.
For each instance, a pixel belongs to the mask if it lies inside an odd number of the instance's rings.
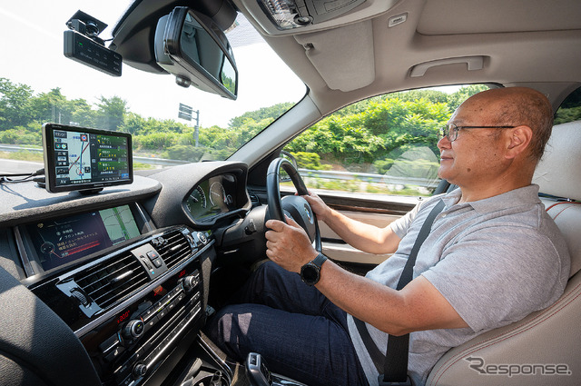
[[[279,185],[281,168],[289,174],[291,182],[299,195],[287,195],[281,199]],[[321,252],[322,247],[317,217],[312,212],[309,202],[301,197],[301,195],[309,194],[309,191],[292,163],[284,158],[277,158],[271,162],[266,174],[266,193],[268,195],[269,217],[272,220],[280,220],[286,223],[284,218],[284,213],[286,213],[305,230],[309,235],[310,242],[314,242],[315,249]]]

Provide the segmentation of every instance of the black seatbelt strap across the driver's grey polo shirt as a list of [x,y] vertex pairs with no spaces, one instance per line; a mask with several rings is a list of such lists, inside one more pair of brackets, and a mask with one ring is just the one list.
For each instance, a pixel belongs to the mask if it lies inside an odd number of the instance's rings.
[[[411,282],[419,248],[426,238],[428,238],[432,223],[434,223],[438,213],[442,212],[444,206],[444,202],[440,200],[440,202],[428,214],[426,221],[422,224],[418,233],[418,238],[416,238],[416,242],[414,242],[414,246],[409,253],[408,262],[406,262],[403,272],[401,272],[401,276],[399,276],[398,286],[396,287],[397,291],[401,290]],[[373,364],[379,371],[379,385],[411,385],[408,378],[409,334],[402,336],[389,335],[388,349],[384,356],[381,351],[379,351],[375,341],[373,341],[369,335],[365,322],[362,322],[355,317],[353,318],[353,322],[355,322],[359,336],[361,337],[363,344],[365,344]],[[383,370],[383,374],[381,374],[381,370]]]

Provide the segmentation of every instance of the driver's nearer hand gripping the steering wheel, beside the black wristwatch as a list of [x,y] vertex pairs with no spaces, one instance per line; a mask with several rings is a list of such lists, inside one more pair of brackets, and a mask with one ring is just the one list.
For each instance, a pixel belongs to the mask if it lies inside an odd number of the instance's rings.
[[269,220],[265,233],[266,255],[287,271],[300,273],[300,267],[313,260],[319,252],[313,248],[309,236],[298,223],[286,217],[287,223]]

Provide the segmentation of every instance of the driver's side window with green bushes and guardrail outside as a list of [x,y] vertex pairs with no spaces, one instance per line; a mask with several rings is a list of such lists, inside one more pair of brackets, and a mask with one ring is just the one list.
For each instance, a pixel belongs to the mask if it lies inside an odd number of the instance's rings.
[[330,114],[285,146],[315,190],[427,196],[438,186],[439,128],[484,84],[375,96]]

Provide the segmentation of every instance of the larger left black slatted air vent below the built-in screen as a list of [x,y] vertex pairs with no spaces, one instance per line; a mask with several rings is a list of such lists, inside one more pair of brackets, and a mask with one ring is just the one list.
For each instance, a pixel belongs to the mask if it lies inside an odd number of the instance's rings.
[[74,282],[103,309],[148,281],[147,273],[130,252],[114,256],[74,277]]

